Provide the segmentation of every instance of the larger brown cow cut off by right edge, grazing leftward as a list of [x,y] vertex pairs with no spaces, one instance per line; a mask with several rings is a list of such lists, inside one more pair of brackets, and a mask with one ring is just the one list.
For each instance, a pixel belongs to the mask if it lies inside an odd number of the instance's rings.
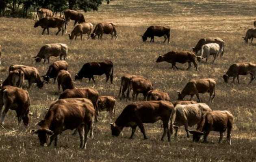
[[252,62],[243,62],[243,63],[236,63],[232,64],[228,71],[226,72],[226,75],[223,75],[223,79],[226,83],[228,83],[229,77],[233,77],[232,83],[234,83],[234,80],[237,79],[237,82],[239,83],[239,75],[251,75],[251,80],[249,83],[252,83],[252,81],[255,79],[256,74],[256,64]]

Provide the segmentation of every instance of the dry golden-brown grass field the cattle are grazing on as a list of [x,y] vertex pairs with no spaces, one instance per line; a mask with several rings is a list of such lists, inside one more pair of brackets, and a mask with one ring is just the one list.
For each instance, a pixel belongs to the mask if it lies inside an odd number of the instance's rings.
[[[210,132],[209,143],[193,143],[187,139],[184,128],[177,139],[161,142],[161,122],[145,124],[148,140],[143,140],[139,129],[135,139],[130,140],[130,128],[125,128],[119,137],[112,137],[108,123],[114,122],[124,107],[133,102],[117,100],[117,114],[111,119],[108,113],[100,113],[100,122],[95,124],[95,138],[89,139],[87,149],[79,149],[79,137],[67,130],[59,137],[57,147],[41,147],[31,129],[43,119],[46,109],[59,97],[57,84],[52,82],[42,90],[35,85],[28,90],[31,99],[30,111],[34,113],[26,130],[22,124],[17,127],[14,111],[9,111],[4,128],[0,127],[0,161],[7,162],[234,162],[256,161],[256,81],[250,85],[249,75],[242,76],[240,84],[224,83],[222,75],[236,62],[256,62],[256,43],[245,44],[242,36],[253,26],[256,19],[254,0],[113,0],[102,5],[99,11],[85,13],[85,19],[95,25],[102,21],[117,23],[118,40],[104,35],[102,40],[70,41],[67,35],[41,35],[41,28],[33,28],[30,19],[0,18],[0,45],[2,45],[1,83],[8,75],[11,64],[36,66],[45,75],[49,64],[35,64],[30,58],[47,43],[66,43],[69,46],[67,62],[72,77],[85,62],[111,60],[114,63],[114,83],[105,83],[105,76],[95,77],[96,83],[88,79],[76,81],[76,87],[93,87],[100,95],[118,95],[120,78],[126,73],[143,75],[152,81],[154,88],[169,93],[171,101],[178,98],[176,91],[182,90],[191,79],[214,78],[217,81],[213,110],[229,110],[234,115],[232,146],[218,144],[219,133]],[[71,32],[73,22],[69,23]],[[143,34],[150,25],[167,25],[171,28],[170,44],[163,44],[163,38],[155,43],[143,43]],[[84,36],[85,38],[86,36]],[[187,64],[177,64],[182,70],[171,69],[168,63],[156,64],[158,55],[171,50],[192,50],[203,37],[221,37],[225,40],[223,58],[215,64],[198,63],[199,71]],[[50,63],[58,58],[50,58]],[[200,95],[203,101],[208,94]],[[139,96],[139,100],[143,97]],[[189,99],[189,97],[187,97]],[[196,99],[196,98],[194,98]],[[226,134],[225,134],[226,135]]]

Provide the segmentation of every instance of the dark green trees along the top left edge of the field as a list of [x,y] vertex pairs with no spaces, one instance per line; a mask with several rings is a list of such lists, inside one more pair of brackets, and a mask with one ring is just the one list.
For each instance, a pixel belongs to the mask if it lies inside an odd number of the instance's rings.
[[40,8],[50,9],[55,15],[66,9],[97,11],[103,1],[110,0],[0,0],[0,16],[31,18]]

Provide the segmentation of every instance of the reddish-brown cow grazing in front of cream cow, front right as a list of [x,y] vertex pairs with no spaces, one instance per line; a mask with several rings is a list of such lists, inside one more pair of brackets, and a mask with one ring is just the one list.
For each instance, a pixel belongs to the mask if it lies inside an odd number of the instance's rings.
[[207,143],[207,136],[210,131],[219,132],[219,143],[223,139],[223,133],[227,130],[227,142],[231,145],[231,130],[234,117],[230,111],[210,111],[206,112],[197,125],[196,130],[189,130],[193,134],[193,141],[198,142],[204,135],[204,143]]

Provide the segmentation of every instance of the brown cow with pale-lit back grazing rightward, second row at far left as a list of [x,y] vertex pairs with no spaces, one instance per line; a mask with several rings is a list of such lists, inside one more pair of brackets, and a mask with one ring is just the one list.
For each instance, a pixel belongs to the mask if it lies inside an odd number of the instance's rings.
[[9,67],[9,72],[17,69],[20,69],[24,72],[24,79],[28,80],[28,89],[31,87],[32,83],[37,83],[38,88],[43,87],[44,81],[41,79],[37,68],[33,66],[11,65]]

